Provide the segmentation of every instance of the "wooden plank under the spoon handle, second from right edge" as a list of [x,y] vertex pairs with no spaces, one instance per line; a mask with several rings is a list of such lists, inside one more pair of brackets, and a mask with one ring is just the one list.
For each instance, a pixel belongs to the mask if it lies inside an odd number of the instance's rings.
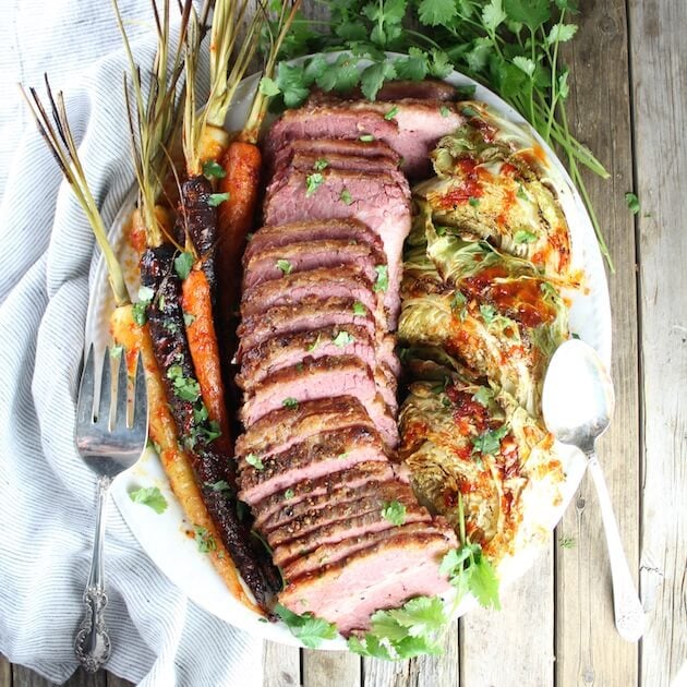
[[[632,186],[627,22],[624,0],[580,3],[580,29],[566,58],[574,74],[570,128],[606,165],[606,181],[584,180],[608,242],[616,410],[599,444],[608,491],[631,570],[638,568],[639,422],[637,305],[632,217],[625,193]],[[561,537],[575,541],[556,556],[556,684],[637,685],[637,644],[615,631],[611,574],[601,514],[584,479],[568,508]]]

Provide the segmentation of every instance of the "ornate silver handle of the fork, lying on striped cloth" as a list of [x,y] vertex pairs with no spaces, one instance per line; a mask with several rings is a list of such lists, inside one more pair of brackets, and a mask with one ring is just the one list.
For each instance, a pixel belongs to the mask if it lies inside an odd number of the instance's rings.
[[105,626],[107,593],[103,576],[103,540],[105,537],[105,508],[111,480],[98,479],[98,505],[96,533],[93,542],[93,558],[88,584],[84,591],[86,612],[74,639],[76,658],[88,673],[95,673],[110,658],[110,636]]

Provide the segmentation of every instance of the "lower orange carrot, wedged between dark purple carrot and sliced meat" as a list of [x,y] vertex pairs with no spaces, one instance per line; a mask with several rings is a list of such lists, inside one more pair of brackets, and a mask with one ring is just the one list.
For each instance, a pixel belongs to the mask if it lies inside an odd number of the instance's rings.
[[201,396],[212,422],[217,422],[221,436],[215,439],[217,450],[231,455],[229,419],[225,405],[225,386],[221,381],[219,347],[213,321],[213,303],[207,277],[200,266],[189,273],[182,285],[181,308],[189,321],[186,337],[201,385]]

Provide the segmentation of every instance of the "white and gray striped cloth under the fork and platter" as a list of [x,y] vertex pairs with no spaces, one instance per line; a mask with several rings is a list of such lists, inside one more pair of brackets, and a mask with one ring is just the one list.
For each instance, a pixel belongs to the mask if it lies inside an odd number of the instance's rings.
[[[141,63],[149,2],[120,0]],[[172,2],[172,7],[176,3]],[[126,69],[109,2],[4,0],[0,23],[0,652],[61,683],[76,668],[95,480],[73,439],[94,241],[14,82],[62,88],[106,224],[133,181]],[[206,614],[155,567],[110,504],[107,668],[142,685],[260,685],[262,642]]]

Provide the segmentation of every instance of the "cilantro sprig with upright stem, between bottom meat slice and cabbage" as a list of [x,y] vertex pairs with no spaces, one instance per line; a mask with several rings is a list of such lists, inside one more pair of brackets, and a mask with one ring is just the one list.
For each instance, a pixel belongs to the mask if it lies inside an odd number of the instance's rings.
[[466,537],[461,494],[458,494],[458,526],[460,545],[444,556],[439,572],[448,576],[450,583],[456,588],[456,601],[460,601],[470,592],[480,602],[480,605],[498,611],[501,610],[498,577],[482,552],[482,546],[470,542]]

